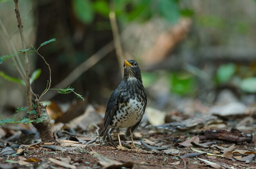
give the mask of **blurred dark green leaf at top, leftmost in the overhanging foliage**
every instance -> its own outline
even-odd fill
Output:
[[[72,0],[72,7],[76,17],[83,23],[91,23],[94,11],[90,0]]]

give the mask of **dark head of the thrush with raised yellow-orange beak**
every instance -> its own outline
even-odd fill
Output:
[[[141,81],[141,72],[135,60],[124,60],[124,79],[129,78],[136,78]]]

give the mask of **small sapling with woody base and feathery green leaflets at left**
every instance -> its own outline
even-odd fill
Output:
[[[8,76],[4,72],[0,72],[0,76],[2,78],[4,78],[5,80],[9,80],[11,82],[16,82],[16,83],[26,86],[27,107],[17,108],[16,114],[10,119],[3,119],[0,117],[1,118],[0,125],[3,123],[14,123],[14,122],[21,122],[21,123],[25,123],[25,124],[31,123],[34,127],[36,127],[36,129],[40,133],[42,142],[54,142],[55,140],[54,140],[53,133],[51,131],[49,115],[47,113],[46,106],[44,106],[41,101],[42,96],[45,93],[47,93],[47,91],[49,91],[49,89],[51,87],[51,82],[52,82],[51,68],[50,68],[49,64],[46,62],[45,58],[42,55],[40,55],[38,50],[42,46],[49,44],[50,42],[56,41],[56,39],[53,38],[51,40],[47,40],[47,41],[43,42],[42,44],[40,44],[40,47],[38,47],[37,49],[33,45],[31,45],[31,48],[26,49],[25,36],[24,36],[24,32],[23,32],[23,24],[22,24],[22,20],[20,18],[20,11],[19,11],[19,7],[18,7],[18,0],[13,0],[13,1],[14,1],[14,7],[15,7],[14,11],[16,13],[16,18],[17,18],[18,30],[20,32],[22,49],[18,50],[18,53],[15,53],[11,56],[1,57],[0,64],[2,64],[4,62],[4,60],[6,60],[8,58],[13,58],[15,56],[15,58],[18,60],[19,63],[17,64],[15,58],[14,58],[13,62],[16,66],[16,69],[20,73],[20,76],[22,77],[22,79]],[[1,27],[4,30],[6,30],[2,25],[1,25]],[[9,37],[8,33],[6,33],[5,36],[8,39],[8,37]],[[12,43],[11,40],[9,42]],[[32,73],[32,75],[30,76],[30,64],[29,64],[29,58],[27,56],[27,53],[31,53],[31,52],[37,53],[43,59],[45,64],[47,64],[48,69],[49,69],[49,80],[47,81],[46,89],[43,91],[43,93],[41,93],[40,96],[35,94],[31,89],[31,83],[33,83],[34,80],[36,80],[40,76],[40,73],[41,73],[41,70],[38,69],[34,73]],[[21,62],[18,58],[19,53],[22,53],[22,56],[24,58],[25,67],[23,67],[23,65],[21,64]],[[68,87],[66,89],[55,89],[55,90],[58,90],[59,93],[64,93],[64,94],[71,93],[71,92],[75,93],[74,89],[72,89],[71,87]],[[77,93],[75,93],[75,94],[83,100],[83,97],[81,95],[79,95]],[[27,111],[28,118],[22,118],[20,120],[16,120],[15,117],[18,116],[20,111]]]

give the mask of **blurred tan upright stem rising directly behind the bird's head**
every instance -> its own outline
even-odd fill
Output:
[[[114,5],[115,5],[114,3],[115,2],[112,1],[112,5],[111,5],[112,11],[110,11],[110,13],[109,13],[109,19],[110,19],[110,24],[111,24],[111,28],[112,28],[115,49],[116,49],[116,53],[117,53],[117,61],[119,62],[121,75],[123,76],[123,74],[124,74],[124,68],[123,68],[124,56],[123,56],[120,37],[119,37],[119,33],[118,33],[116,14],[114,12]]]

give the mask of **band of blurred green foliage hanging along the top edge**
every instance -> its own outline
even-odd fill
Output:
[[[179,0],[73,0],[72,7],[76,17],[85,24],[92,23],[95,14],[108,18],[111,8],[123,22],[135,19],[143,22],[158,15],[175,23],[181,15],[193,15],[191,9],[180,9]]]

